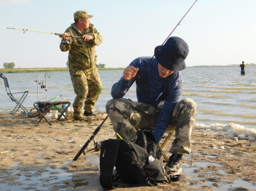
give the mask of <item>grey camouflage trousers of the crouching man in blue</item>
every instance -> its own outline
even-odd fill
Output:
[[[137,140],[137,130],[154,130],[161,108],[149,104],[134,102],[125,98],[111,99],[106,104],[108,116],[114,131],[128,141]],[[171,121],[165,132],[175,131],[171,153],[189,154],[191,152],[191,135],[197,116],[197,104],[190,98],[184,98],[176,105]]]

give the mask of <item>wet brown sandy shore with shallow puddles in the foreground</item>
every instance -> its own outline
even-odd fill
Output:
[[[106,113],[88,121],[56,121],[0,113],[0,190],[103,190],[99,152],[76,153],[102,123]],[[107,120],[95,141],[115,138]],[[167,155],[171,140],[165,146]],[[155,187],[115,190],[256,190],[256,141],[237,140],[210,130],[194,130],[191,155],[183,158],[180,181]],[[93,141],[85,150],[93,148]]]

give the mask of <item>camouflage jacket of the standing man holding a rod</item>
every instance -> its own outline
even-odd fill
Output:
[[[65,33],[71,36],[83,36],[89,34],[93,36],[93,40],[84,41],[82,38],[70,38],[70,44],[65,44],[64,40],[60,44],[60,50],[68,53],[69,67],[75,67],[80,70],[88,70],[96,65],[96,48],[95,45],[102,43],[102,35],[96,30],[93,24],[90,25],[84,33],[80,33],[76,25],[73,23]]]

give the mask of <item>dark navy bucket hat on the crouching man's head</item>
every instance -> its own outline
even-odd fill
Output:
[[[180,71],[186,68],[185,59],[189,51],[186,41],[174,36],[168,38],[165,44],[160,47],[157,46],[154,49],[155,57],[159,64],[171,71]]]

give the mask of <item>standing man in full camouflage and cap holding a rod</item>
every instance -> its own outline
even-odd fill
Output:
[[[102,84],[96,67],[95,45],[102,43],[102,35],[96,30],[85,10],[73,14],[75,22],[65,30],[60,44],[63,52],[69,50],[68,67],[73,90],[76,98],[73,101],[73,118],[76,121],[85,120],[83,115],[91,116],[94,105],[102,92]],[[70,38],[68,36],[79,36],[81,38]],[[85,103],[85,113],[82,107]]]

